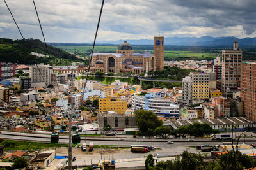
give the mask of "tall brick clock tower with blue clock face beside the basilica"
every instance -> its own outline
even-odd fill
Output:
[[[164,37],[154,37],[154,56],[156,57],[156,70],[164,69]]]

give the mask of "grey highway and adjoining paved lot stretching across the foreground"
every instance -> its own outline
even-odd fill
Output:
[[[20,133],[20,132],[7,132],[2,131],[0,134],[0,138],[4,139],[13,139],[13,140],[21,140],[21,141],[37,141],[37,142],[44,142],[50,143],[50,136],[49,134],[34,134],[34,133]],[[124,141],[120,141],[120,140]],[[130,146],[130,145],[151,145],[155,148],[158,148],[151,153],[156,154],[158,153],[162,157],[168,157],[173,155],[179,155],[184,150],[189,150],[189,152],[198,152],[195,148],[191,148],[189,146],[196,146],[196,145],[221,145],[221,141],[209,141],[209,139],[195,139],[195,141],[188,141],[187,139],[134,139],[134,138],[104,138],[104,137],[82,137],[81,143],[83,141],[93,141],[95,145],[116,145],[116,146]],[[173,141],[173,144],[167,144],[167,141]],[[246,144],[250,145],[251,143],[255,143],[255,138],[248,138],[246,139]],[[68,136],[60,136],[59,143],[68,143]],[[244,143],[244,139],[241,138],[241,142]],[[77,150],[77,149],[75,149]],[[106,153],[103,153],[106,156]],[[96,154],[97,155],[97,154]],[[134,158],[134,157],[143,157],[143,153],[132,154],[129,150],[125,152],[117,152],[114,154],[118,159],[124,158]],[[97,155],[99,157],[99,154]]]

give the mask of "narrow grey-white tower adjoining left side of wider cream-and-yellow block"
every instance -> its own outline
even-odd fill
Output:
[[[182,78],[182,104],[193,104],[193,80],[189,76]]]

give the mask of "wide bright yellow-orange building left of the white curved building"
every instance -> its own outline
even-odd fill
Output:
[[[115,111],[116,113],[125,114],[127,110],[127,101],[123,101],[118,98],[99,98],[99,113],[103,111]]]

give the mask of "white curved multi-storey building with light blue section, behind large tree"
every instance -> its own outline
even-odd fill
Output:
[[[179,105],[171,103],[170,99],[157,98],[154,94],[132,96],[133,110],[153,111],[159,117],[179,117]]]

